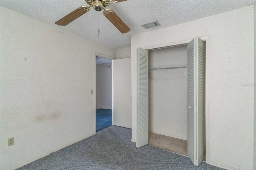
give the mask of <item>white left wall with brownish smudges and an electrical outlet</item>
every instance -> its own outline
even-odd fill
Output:
[[[0,15],[0,169],[7,170],[96,132],[95,52],[116,50],[2,6]]]

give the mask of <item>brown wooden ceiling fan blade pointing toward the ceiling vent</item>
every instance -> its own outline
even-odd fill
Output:
[[[116,15],[116,13],[112,10],[104,10],[104,16],[108,18],[108,20],[122,33],[126,33],[130,31],[130,28]]]

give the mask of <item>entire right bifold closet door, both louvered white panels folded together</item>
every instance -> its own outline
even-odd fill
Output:
[[[194,165],[204,159],[205,42],[188,43],[188,156]]]

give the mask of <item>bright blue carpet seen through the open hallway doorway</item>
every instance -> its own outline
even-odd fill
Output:
[[[96,109],[96,132],[112,125],[112,110]]]

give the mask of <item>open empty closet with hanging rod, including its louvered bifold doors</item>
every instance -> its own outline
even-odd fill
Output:
[[[150,141],[182,150],[199,166],[205,158],[205,42],[138,49],[137,112],[136,147]]]

